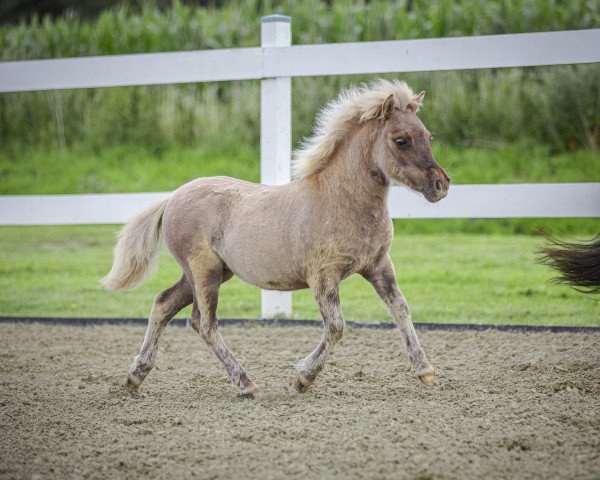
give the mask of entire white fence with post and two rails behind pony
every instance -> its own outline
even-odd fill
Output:
[[[264,17],[261,47],[0,63],[0,92],[261,79],[261,182],[290,181],[291,77],[600,62],[600,29],[291,46],[291,19]],[[123,223],[168,193],[0,197],[0,225]],[[393,187],[394,218],[600,217],[600,183],[453,185],[429,204]],[[262,292],[261,314],[291,295]]]

